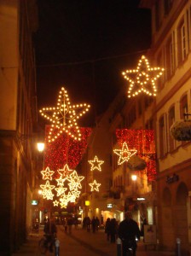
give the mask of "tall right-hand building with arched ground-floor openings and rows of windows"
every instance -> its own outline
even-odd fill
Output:
[[[153,64],[165,67],[153,108],[158,159],[158,238],[162,248],[175,251],[181,241],[182,255],[190,251],[190,139],[171,136],[171,125],[191,113],[191,1],[142,0],[152,12]],[[186,114],[186,115],[185,115]],[[182,120],[182,121],[180,121]],[[176,130],[177,128],[175,128]],[[178,239],[178,240],[177,240]]]

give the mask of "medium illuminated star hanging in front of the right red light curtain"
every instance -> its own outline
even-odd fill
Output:
[[[129,149],[127,143],[123,143],[122,149],[114,149],[113,152],[119,155],[118,164],[121,165],[125,161],[128,162],[133,154],[136,154],[136,149]]]

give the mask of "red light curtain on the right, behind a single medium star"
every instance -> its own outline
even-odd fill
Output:
[[[146,173],[148,181],[155,180],[156,154],[153,130],[117,129],[116,137],[121,147],[123,143],[127,143],[129,148],[136,148],[136,154],[147,162]]]

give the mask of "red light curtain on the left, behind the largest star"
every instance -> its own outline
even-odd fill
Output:
[[[44,168],[49,166],[51,170],[57,171],[67,164],[69,168],[75,169],[87,147],[87,140],[90,137],[92,129],[80,128],[82,134],[80,141],[73,140],[72,137],[63,133],[59,139],[49,143],[48,136],[50,128],[50,125],[46,125],[45,127]],[[54,176],[56,175],[58,176],[57,178],[60,177],[57,172],[55,172]]]

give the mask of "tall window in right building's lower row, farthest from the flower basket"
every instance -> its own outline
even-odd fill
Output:
[[[159,119],[159,153],[160,157],[167,153],[165,115]]]

